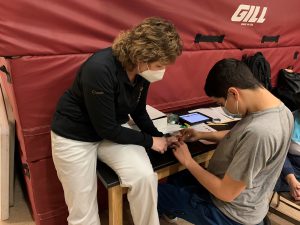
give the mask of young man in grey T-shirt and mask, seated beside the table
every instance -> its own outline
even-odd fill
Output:
[[[197,185],[160,184],[158,211],[196,225],[259,224],[286,157],[293,116],[285,105],[236,59],[223,59],[210,70],[205,92],[242,119],[230,131],[183,130],[174,155]],[[218,142],[208,170],[191,157],[183,141]]]

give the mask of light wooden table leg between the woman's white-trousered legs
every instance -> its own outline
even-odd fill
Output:
[[[109,225],[123,225],[123,191],[120,185],[108,189]]]

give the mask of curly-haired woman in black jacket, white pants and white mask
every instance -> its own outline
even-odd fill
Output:
[[[69,210],[69,225],[100,224],[97,154],[129,187],[136,225],[159,224],[157,176],[145,149],[164,153],[168,142],[146,111],[151,82],[182,52],[173,24],[147,18],[92,55],[61,97],[52,122],[52,154]],[[141,131],[126,124],[132,117]]]

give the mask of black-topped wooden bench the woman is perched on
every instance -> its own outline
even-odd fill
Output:
[[[215,147],[216,145],[204,145],[200,142],[189,143],[191,154],[198,163],[208,162]],[[148,155],[159,180],[185,169],[178,163],[172,151],[167,151],[161,155],[149,150]],[[108,189],[109,225],[122,225],[123,194],[127,193],[127,188],[120,186],[116,173],[100,160],[98,160],[97,174]]]

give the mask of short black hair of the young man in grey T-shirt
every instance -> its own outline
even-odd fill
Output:
[[[204,87],[205,93],[209,97],[226,99],[230,87],[256,89],[262,85],[242,61],[222,59],[209,71]]]

